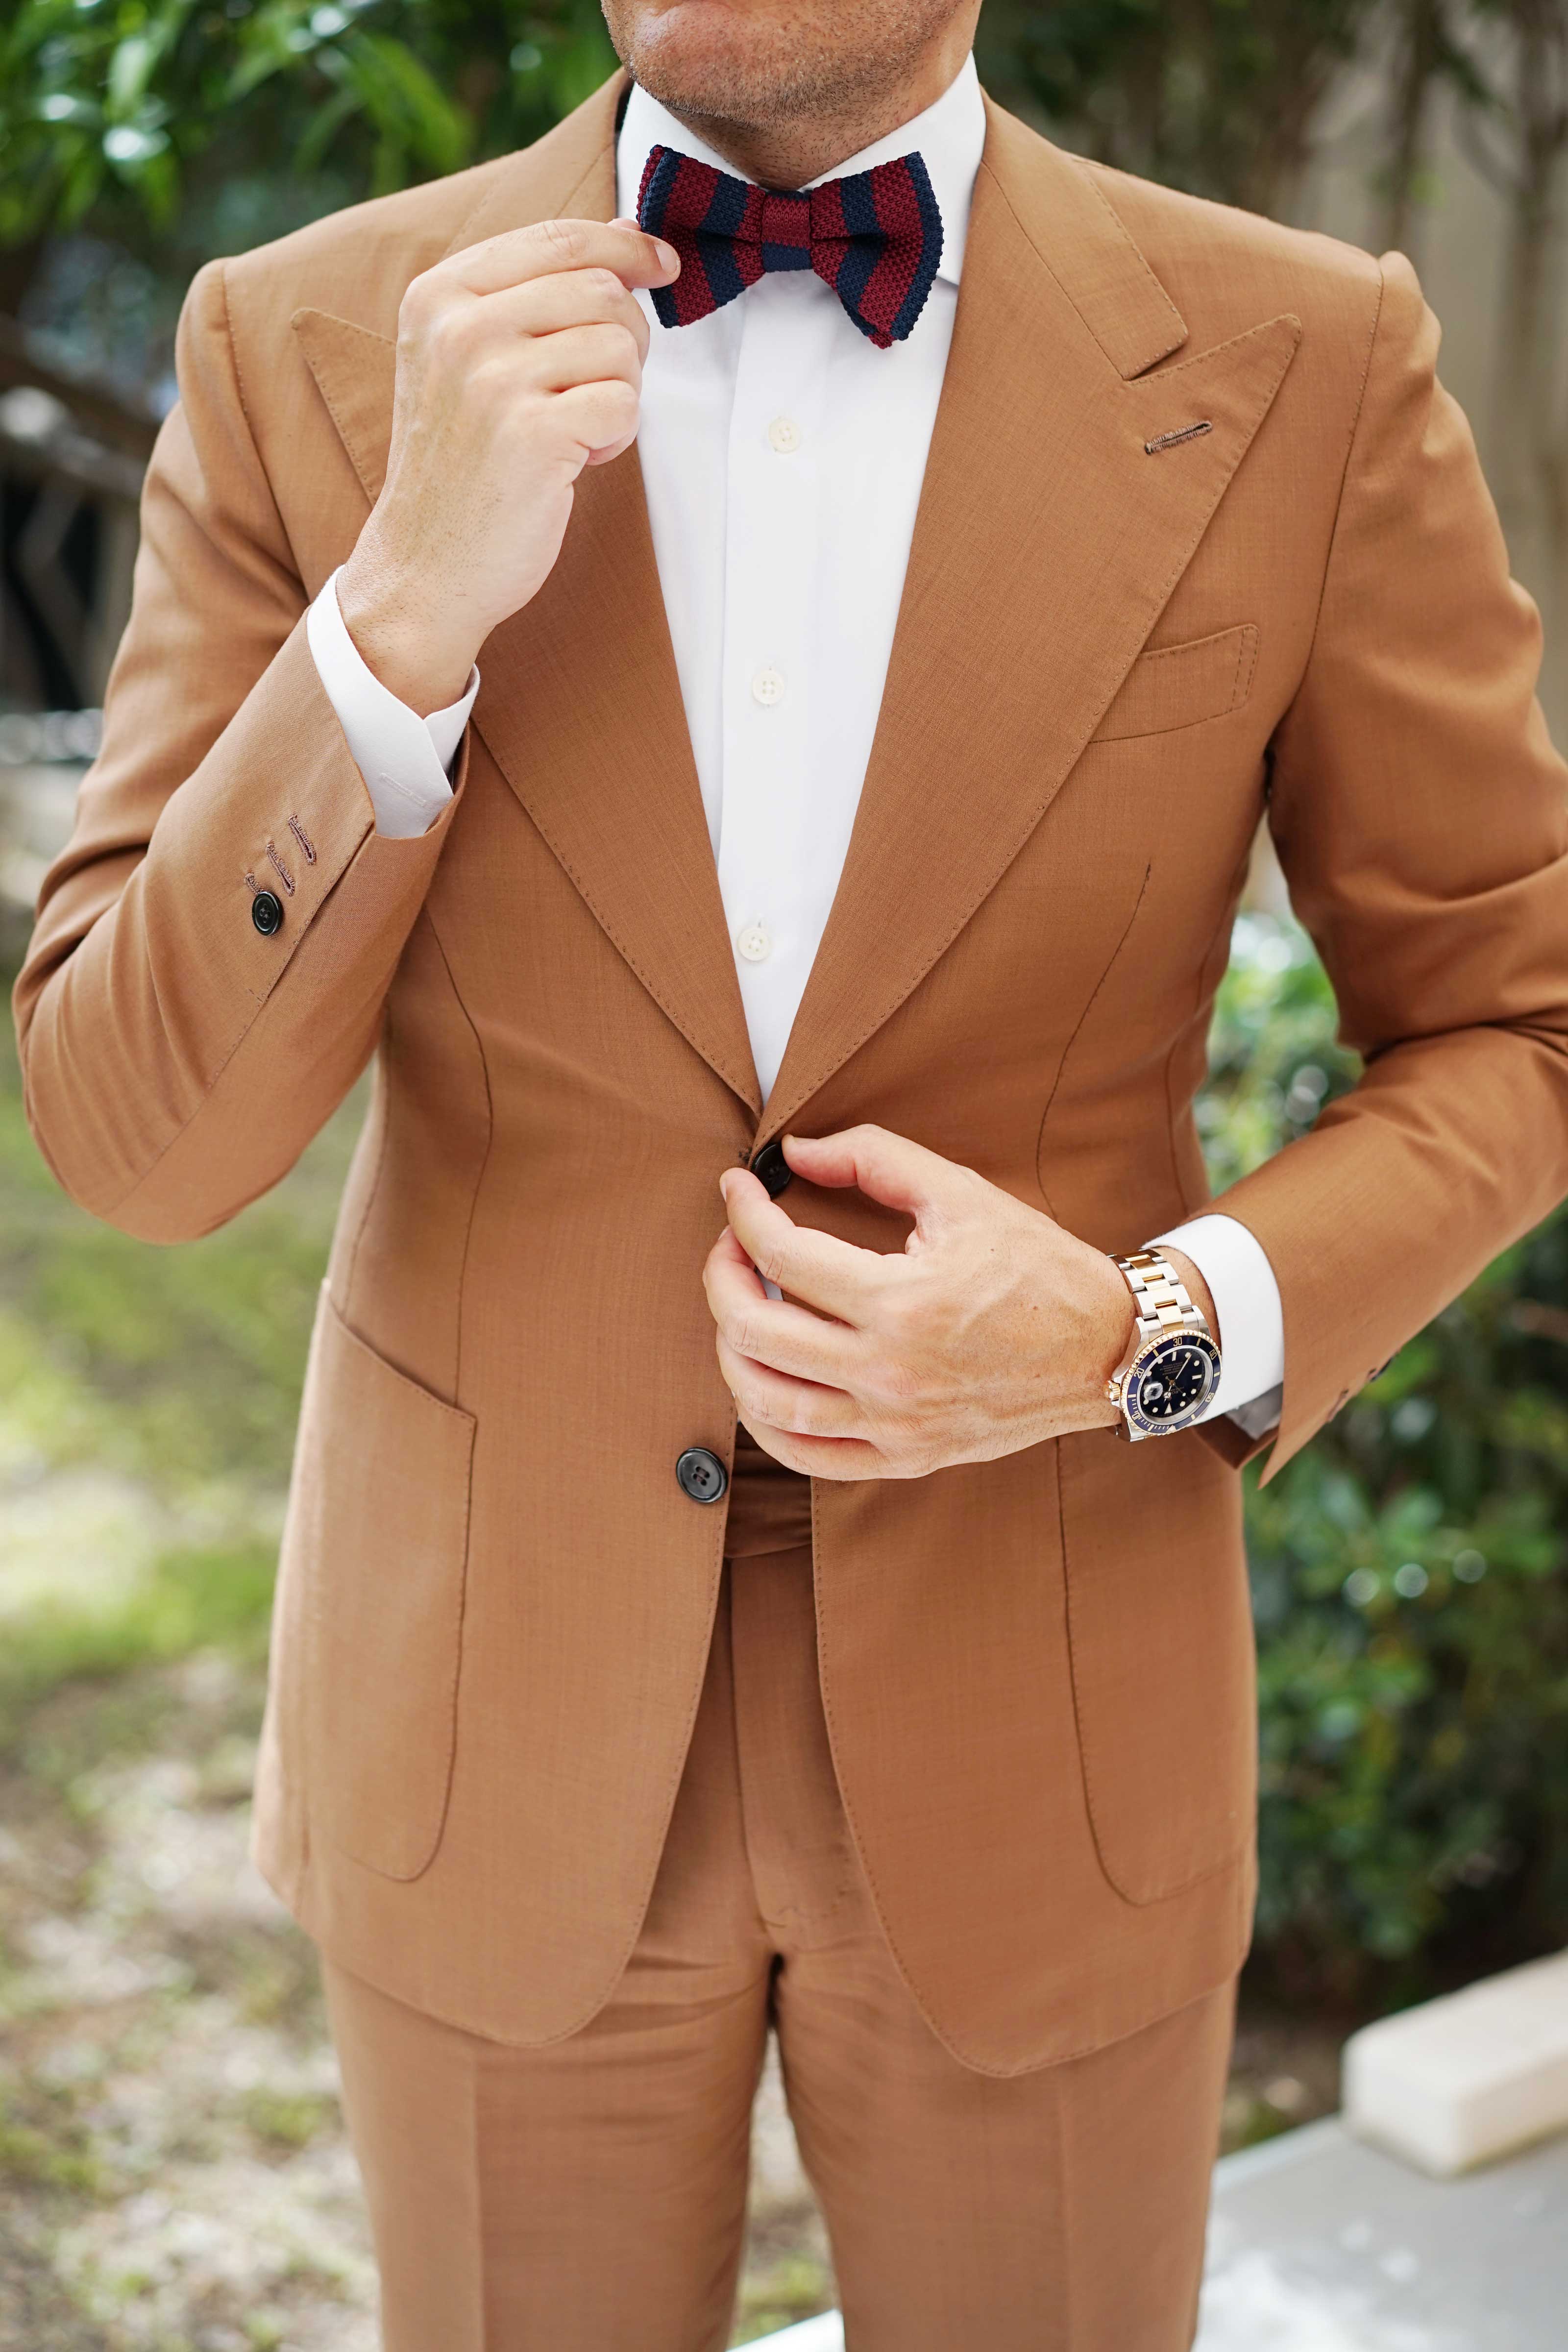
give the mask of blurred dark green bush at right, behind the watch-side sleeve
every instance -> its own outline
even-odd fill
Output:
[[[1305,936],[1241,917],[1215,1185],[1352,1080]],[[1385,2004],[1568,1940],[1566,1371],[1559,1211],[1279,1479],[1248,1472],[1258,1947],[1286,1992]]]

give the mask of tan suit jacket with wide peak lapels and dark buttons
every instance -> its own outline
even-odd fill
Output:
[[[1363,1084],[1225,1209],[1274,1465],[1568,1188],[1563,767],[1410,268],[992,108],[865,795],[759,1115],[637,459],[381,840],[301,614],[376,496],[409,278],[614,209],[618,85],[522,155],[202,270],[106,748],[19,985],[68,1190],[263,1192],[374,1058],[299,1439],[261,1865],[348,1969],[534,2044],[607,1999],[691,1729],[731,1454],[719,1169],[877,1120],[1105,1249],[1192,1120],[1267,814]],[[1161,445],[1187,426],[1199,433]],[[252,882],[284,901],[263,938]],[[790,1211],[903,1228],[797,1183]],[[1218,1985],[1253,1898],[1234,1432],[813,1496],[835,1762],[936,2032],[1016,2072]]]

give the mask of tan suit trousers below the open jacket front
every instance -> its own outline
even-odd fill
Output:
[[[943,2049],[844,1823],[809,1550],[724,1571],[646,1926],[583,2032],[505,2049],[331,1964],[327,1994],[388,2352],[719,2352],[769,2023],[849,2352],[1192,2343],[1232,1990],[1013,2079]]]

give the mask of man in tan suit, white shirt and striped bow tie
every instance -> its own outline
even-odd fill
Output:
[[[1237,1468],[1568,1188],[1410,268],[1058,153],[976,12],[609,0],[630,78],[181,327],[19,1023],[153,1240],[374,1061],[256,1842],[395,2352],[724,2345],[769,2025],[856,2352],[1187,2345]],[[1206,1211],[1260,818],[1366,1077]]]

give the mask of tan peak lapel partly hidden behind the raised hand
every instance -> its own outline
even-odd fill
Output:
[[[496,174],[451,252],[555,214],[616,209],[621,78]],[[301,310],[294,332],[374,503],[393,343]],[[578,477],[557,564],[480,652],[475,727],[588,908],[682,1035],[757,1112],[762,1094],[691,760],[637,452]]]

